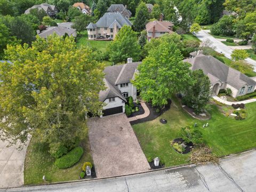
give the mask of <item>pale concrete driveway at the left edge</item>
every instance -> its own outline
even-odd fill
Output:
[[[22,186],[27,146],[18,150],[18,144],[11,147],[7,145],[8,142],[0,140],[0,188]]]

